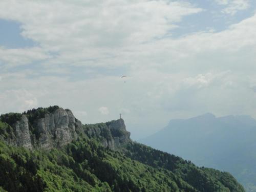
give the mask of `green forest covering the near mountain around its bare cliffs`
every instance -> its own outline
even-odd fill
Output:
[[[23,115],[34,121],[56,109]],[[111,122],[82,125],[76,140],[50,150],[13,146],[6,138],[15,137],[12,124],[20,116],[9,115],[0,118],[0,191],[244,191],[228,173],[132,140],[115,150],[104,147],[102,139],[122,134],[110,131]],[[93,129],[100,137],[90,134]]]

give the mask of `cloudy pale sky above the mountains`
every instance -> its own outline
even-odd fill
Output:
[[[255,11],[254,0],[1,0],[0,114],[121,113],[135,140],[175,118],[256,118]]]

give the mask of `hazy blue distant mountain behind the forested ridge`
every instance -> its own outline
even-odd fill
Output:
[[[208,113],[170,120],[164,129],[140,142],[197,165],[227,171],[247,191],[256,191],[256,120],[250,116],[217,118]]]

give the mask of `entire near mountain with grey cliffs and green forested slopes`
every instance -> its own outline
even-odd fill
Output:
[[[227,172],[198,167],[130,139],[123,119],[82,124],[70,110],[0,117],[0,191],[244,191]]]

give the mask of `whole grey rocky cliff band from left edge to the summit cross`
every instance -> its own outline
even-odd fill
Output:
[[[5,117],[8,117],[8,114]],[[5,121],[3,118],[1,120]],[[13,132],[12,139],[1,136],[1,133],[0,138],[14,146],[24,146],[31,150],[33,148],[48,150],[60,147],[76,140],[79,134],[95,137],[104,147],[110,147],[113,150],[119,148],[123,143],[131,141],[130,132],[126,131],[123,119],[82,125],[74,117],[72,111],[62,108],[57,108],[54,111],[50,111],[48,108],[28,111],[20,115],[19,119],[9,126]]]

